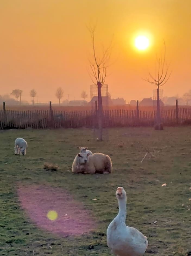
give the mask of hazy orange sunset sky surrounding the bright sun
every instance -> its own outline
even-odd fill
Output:
[[[106,79],[111,97],[151,97],[155,87],[142,80],[153,70],[155,53],[165,39],[172,75],[164,96],[181,96],[191,89],[190,0],[1,0],[0,85],[1,92],[23,90],[30,101],[35,89],[40,102],[57,102],[90,96],[87,73],[91,52],[86,25],[96,22],[96,45],[107,46],[113,36],[112,65]],[[134,33],[147,31],[153,43],[144,52],[131,41]],[[99,44],[98,44],[99,43]]]

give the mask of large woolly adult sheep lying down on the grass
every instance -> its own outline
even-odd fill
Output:
[[[102,153],[79,153],[73,161],[72,172],[109,174],[112,172],[111,158]]]

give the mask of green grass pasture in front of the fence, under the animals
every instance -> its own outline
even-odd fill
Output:
[[[90,129],[0,133],[0,255],[112,255],[106,230],[118,212],[118,186],[127,192],[126,224],[148,237],[145,255],[187,255],[191,251],[190,133],[190,127],[109,129],[109,141],[103,142],[93,140]],[[17,137],[28,142],[26,156],[14,155]],[[109,154],[113,172],[72,174],[77,146]],[[154,156],[141,163],[147,147]],[[60,169],[44,170],[47,161]],[[163,183],[167,186],[161,187]],[[58,212],[56,221],[45,216],[52,207]],[[63,217],[67,213],[76,218],[69,226]],[[80,230],[91,231],[72,235]]]

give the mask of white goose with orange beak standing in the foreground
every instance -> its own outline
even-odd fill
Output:
[[[123,187],[115,193],[118,204],[118,215],[107,228],[107,245],[118,256],[142,256],[148,246],[147,237],[133,227],[126,227],[127,196]]]

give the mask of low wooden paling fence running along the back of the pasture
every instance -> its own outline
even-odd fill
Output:
[[[153,126],[156,111],[112,109],[104,110],[104,127]],[[161,110],[161,120],[166,126],[191,124],[191,109]],[[36,129],[97,127],[95,110],[87,111],[0,111],[0,129]]]

